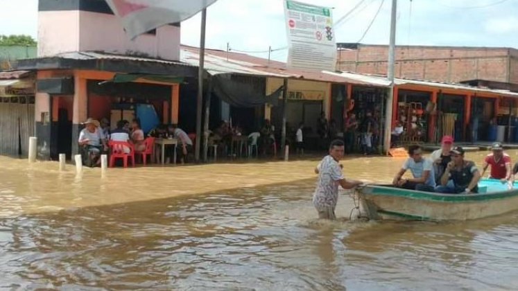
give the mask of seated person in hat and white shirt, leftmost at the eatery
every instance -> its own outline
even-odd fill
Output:
[[[107,152],[108,146],[106,143],[103,131],[100,124],[94,118],[88,118],[82,123],[85,129],[81,130],[79,134],[78,143],[86,150],[87,157],[83,157],[87,166],[94,166],[101,164],[101,153]]]

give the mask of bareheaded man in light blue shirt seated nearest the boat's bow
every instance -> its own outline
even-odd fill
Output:
[[[408,147],[408,155],[410,156],[403,164],[399,173],[394,177],[392,184],[394,186],[417,190],[417,191],[435,191],[435,175],[433,173],[433,162],[429,158],[424,158],[420,145],[411,145]],[[403,179],[406,170],[410,170],[413,179]]]

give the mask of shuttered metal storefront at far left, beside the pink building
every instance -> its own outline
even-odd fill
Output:
[[[0,155],[28,155],[28,140],[34,136],[34,82],[0,80]]]

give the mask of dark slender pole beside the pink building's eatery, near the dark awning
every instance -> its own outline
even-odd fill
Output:
[[[200,161],[200,148],[202,141],[202,105],[203,105],[203,78],[205,77],[205,30],[207,28],[207,8],[202,10],[202,27],[200,36],[200,64],[198,66],[198,98],[196,103],[196,148],[194,159]]]

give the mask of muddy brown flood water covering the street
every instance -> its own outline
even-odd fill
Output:
[[[481,164],[485,154],[468,158]],[[513,160],[517,154],[510,152]],[[340,220],[320,222],[311,204],[316,177],[307,174],[315,161],[110,169],[102,178],[98,169],[76,177],[53,163],[0,161],[1,290],[518,286],[518,213],[455,223],[349,222],[353,203],[344,193]],[[402,162],[343,165],[348,177],[388,182]],[[239,178],[226,174],[232,167]],[[260,186],[270,170],[304,179]],[[232,183],[245,188],[207,191]],[[203,193],[187,193],[197,188]],[[175,191],[185,195],[168,196]]]

